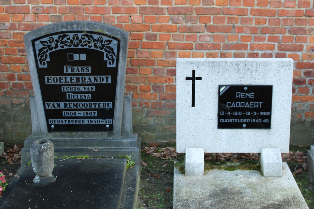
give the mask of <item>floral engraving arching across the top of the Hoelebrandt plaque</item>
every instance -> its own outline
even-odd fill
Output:
[[[97,50],[104,51],[108,64],[112,65],[115,62],[116,53],[111,47],[111,42],[112,40],[104,39],[102,36],[94,38],[92,34],[73,34],[72,38],[68,34],[61,34],[57,39],[51,36],[48,40],[40,41],[42,47],[38,50],[38,60],[41,65],[46,65],[48,52],[57,50],[59,47],[62,49],[69,47],[93,47]]]

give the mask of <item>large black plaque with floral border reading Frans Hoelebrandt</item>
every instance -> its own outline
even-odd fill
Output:
[[[113,130],[120,39],[60,31],[32,40],[49,132]]]

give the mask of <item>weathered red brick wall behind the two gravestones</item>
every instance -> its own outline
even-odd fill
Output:
[[[23,34],[71,20],[130,32],[126,94],[133,97],[134,132],[144,141],[176,139],[179,57],[292,58],[291,140],[313,138],[312,0],[0,0],[0,106],[6,114],[29,110],[33,94]],[[31,132],[27,117],[1,117],[17,125],[0,127],[4,140]]]

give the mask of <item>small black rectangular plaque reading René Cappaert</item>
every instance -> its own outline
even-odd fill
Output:
[[[273,86],[219,85],[218,128],[270,129]]]

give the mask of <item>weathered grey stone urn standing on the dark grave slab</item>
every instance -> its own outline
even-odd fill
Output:
[[[54,167],[54,145],[48,139],[40,139],[30,145],[30,158],[36,174],[34,183],[48,184],[55,180],[51,174]]]

